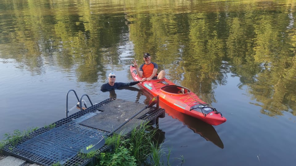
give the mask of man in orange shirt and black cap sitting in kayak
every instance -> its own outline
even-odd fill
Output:
[[[157,75],[158,65],[151,62],[151,56],[149,53],[144,53],[143,60],[145,63],[143,63],[139,68],[136,60],[134,59],[134,66],[140,77],[147,78],[147,81],[162,79],[165,77],[166,72],[164,70],[161,70]]]

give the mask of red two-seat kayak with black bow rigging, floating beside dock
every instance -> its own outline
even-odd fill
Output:
[[[137,70],[133,65],[130,66],[130,73],[135,81],[142,79],[138,76]],[[159,95],[159,99],[162,102],[177,111],[196,117],[208,124],[219,125],[226,121],[226,118],[219,111],[200,100],[195,93],[188,88],[175,85],[167,78],[143,81],[137,85],[147,90],[153,96]]]

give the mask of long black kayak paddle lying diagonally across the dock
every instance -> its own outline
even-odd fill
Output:
[[[144,109],[146,108],[150,108],[152,107],[154,104],[157,104],[158,107],[158,99],[159,96],[155,96],[153,97],[149,103],[145,106],[145,108],[143,108],[142,110],[140,110],[138,113],[134,114],[132,117],[130,117],[128,120],[126,120],[125,122],[123,122],[121,125],[119,125],[117,128],[115,128],[113,131],[111,131],[109,134],[107,134],[105,137],[103,137],[101,140],[95,140],[93,141],[90,145],[82,148],[80,150],[81,153],[88,153],[88,152],[92,152],[92,151],[96,151],[97,149],[100,149],[101,147],[104,146],[105,144],[105,138],[109,137],[110,135],[112,135],[114,132],[116,132],[119,128],[121,128],[123,125],[125,125],[127,122],[129,122],[131,119],[133,119],[134,117],[136,117],[139,113],[141,113],[142,111],[144,111]]]

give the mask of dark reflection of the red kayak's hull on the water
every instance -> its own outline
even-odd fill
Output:
[[[190,128],[193,132],[204,137],[204,139],[206,139],[207,141],[211,141],[213,144],[217,145],[219,148],[222,148],[222,149],[224,148],[224,144],[222,140],[220,139],[218,133],[216,132],[215,128],[212,125],[207,124],[204,121],[201,121],[195,117],[191,117],[186,114],[183,114],[169,107],[162,101],[160,101],[159,104],[161,108],[166,110],[166,113],[169,116],[183,122],[183,124],[187,125],[187,127]]]

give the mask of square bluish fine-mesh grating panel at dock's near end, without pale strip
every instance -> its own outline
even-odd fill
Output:
[[[40,158],[64,164],[87,144],[97,139],[77,135],[62,128],[53,128],[17,146],[18,149]]]

